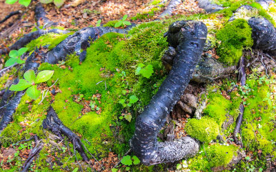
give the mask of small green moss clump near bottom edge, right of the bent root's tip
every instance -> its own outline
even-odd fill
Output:
[[[211,166],[226,166],[233,158],[233,148],[221,144],[213,144],[206,149]]]

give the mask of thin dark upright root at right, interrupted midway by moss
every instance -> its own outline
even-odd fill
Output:
[[[239,60],[239,82],[241,83],[241,86],[246,85],[246,63],[245,63],[244,56],[242,56],[241,59]],[[235,143],[237,144],[242,144],[242,142],[239,142],[239,140],[237,140],[237,133],[239,133],[239,129],[241,128],[243,116],[244,116],[244,104],[241,103],[239,105],[239,116],[237,117],[236,127],[233,132],[233,138]]]

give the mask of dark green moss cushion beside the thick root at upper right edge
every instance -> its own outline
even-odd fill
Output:
[[[219,42],[217,54],[219,61],[226,65],[237,65],[244,47],[252,47],[251,28],[244,19],[227,23],[216,34]]]

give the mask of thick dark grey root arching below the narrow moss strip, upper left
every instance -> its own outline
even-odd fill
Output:
[[[95,41],[95,39],[98,39],[99,36],[102,36],[108,32],[125,34],[126,30],[104,27],[83,28],[75,32],[75,34],[68,36],[65,40],[61,41],[59,45],[47,52],[45,54],[45,62],[55,64],[59,61],[66,61],[66,56],[74,52],[76,52],[79,56],[81,54],[81,47],[85,46],[84,44],[87,43],[87,47],[89,46],[88,41]],[[80,60],[83,61],[84,58],[85,56],[81,54]]]

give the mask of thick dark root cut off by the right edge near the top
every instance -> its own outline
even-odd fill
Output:
[[[265,18],[252,17],[248,20],[252,28],[253,48],[264,50],[269,54],[276,55],[276,29]]]

